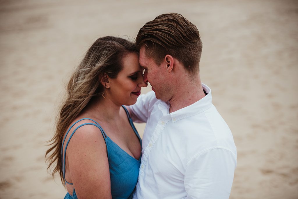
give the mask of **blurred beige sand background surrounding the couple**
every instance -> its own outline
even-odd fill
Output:
[[[1,0],[1,199],[64,197],[44,154],[70,74],[98,37],[169,12],[201,34],[201,78],[238,149],[230,198],[298,198],[298,1]]]

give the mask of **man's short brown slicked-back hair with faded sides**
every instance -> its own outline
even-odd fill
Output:
[[[202,41],[197,27],[177,13],[167,13],[147,22],[136,37],[136,47],[146,48],[146,55],[161,64],[165,55],[178,59],[184,68],[199,71]]]

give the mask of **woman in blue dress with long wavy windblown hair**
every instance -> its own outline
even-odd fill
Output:
[[[72,75],[57,121],[49,167],[60,173],[65,198],[132,198],[141,139],[128,111],[143,81],[134,43],[97,39]]]

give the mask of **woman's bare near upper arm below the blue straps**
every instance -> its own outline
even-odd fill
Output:
[[[112,198],[106,145],[94,125],[80,127],[69,142],[66,163],[78,198]]]

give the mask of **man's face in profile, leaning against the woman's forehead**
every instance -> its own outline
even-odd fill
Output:
[[[170,89],[169,89],[169,79],[166,78],[165,67],[163,67],[163,62],[157,65],[152,57],[146,55],[145,46],[140,49],[139,63],[144,67],[144,81],[149,82],[152,86],[152,90],[155,92],[156,98],[162,101],[169,101]]]

